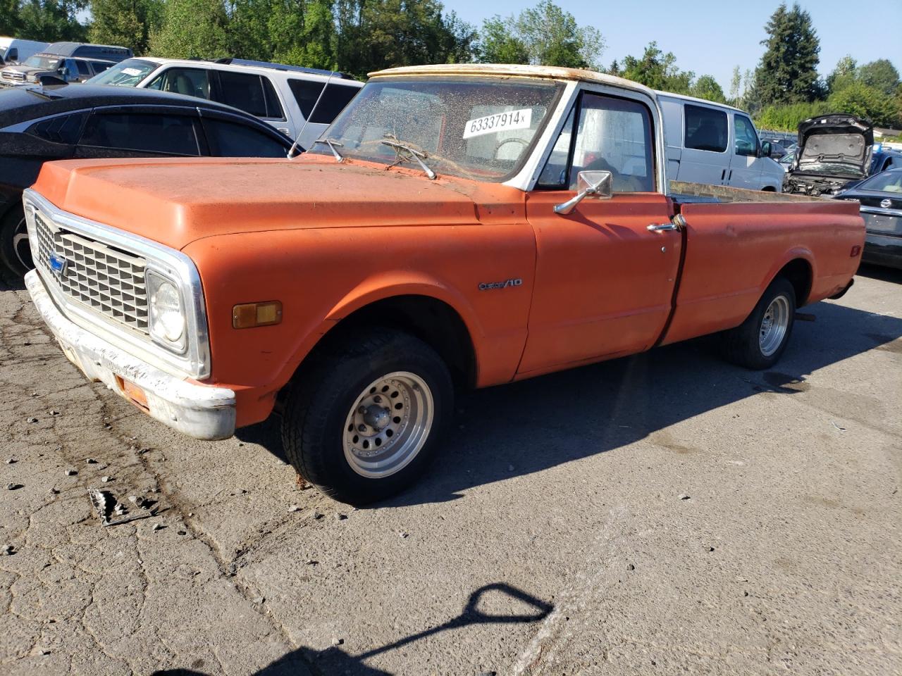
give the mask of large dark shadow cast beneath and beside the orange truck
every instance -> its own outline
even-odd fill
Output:
[[[466,489],[621,448],[760,392],[807,391],[810,374],[861,352],[902,352],[900,318],[835,303],[802,315],[808,321],[796,319],[787,352],[769,371],[722,361],[717,337],[708,336],[465,394],[435,464],[413,488],[374,507],[456,500]],[[284,459],[275,417],[238,434]]]

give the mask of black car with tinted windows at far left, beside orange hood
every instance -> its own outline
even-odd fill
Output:
[[[291,140],[227,105],[96,85],[0,90],[0,265],[32,266],[22,192],[49,160],[286,157]]]

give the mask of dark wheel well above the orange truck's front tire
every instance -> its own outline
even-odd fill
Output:
[[[417,336],[445,360],[456,386],[475,385],[476,357],[470,332],[452,306],[433,297],[396,296],[361,307],[340,320],[315,349],[372,326],[387,326]]]

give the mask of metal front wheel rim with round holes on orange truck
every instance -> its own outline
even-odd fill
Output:
[[[345,418],[345,460],[361,476],[383,479],[417,457],[435,407],[426,381],[410,371],[373,380]]]

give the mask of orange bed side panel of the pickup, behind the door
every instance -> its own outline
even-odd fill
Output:
[[[689,204],[681,213],[686,259],[664,344],[738,326],[792,260],[811,268],[805,304],[844,288],[861,261],[851,255],[864,244],[856,203]]]

